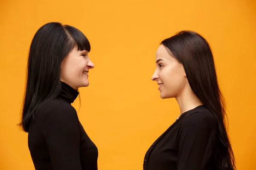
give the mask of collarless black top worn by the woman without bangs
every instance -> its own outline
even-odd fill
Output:
[[[144,170],[218,170],[218,122],[204,106],[181,114],[148,149]]]

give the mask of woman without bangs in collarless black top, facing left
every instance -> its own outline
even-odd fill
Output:
[[[148,149],[144,170],[236,169],[207,40],[180,31],[161,42],[156,65],[152,80],[162,99],[177,100],[180,116]]]

